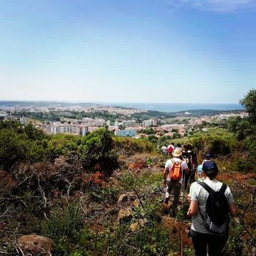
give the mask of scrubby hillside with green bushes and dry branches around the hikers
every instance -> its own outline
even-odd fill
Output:
[[[246,142],[217,131],[179,142],[194,143],[199,162],[211,152],[234,194],[240,223],[231,220],[224,255],[255,255],[255,167]],[[1,123],[0,138],[1,255],[22,255],[16,240],[24,234],[52,239],[56,256],[193,255],[189,204],[180,196],[176,218],[169,216],[167,156],[156,144],[105,129],[84,138],[46,136],[11,122]]]

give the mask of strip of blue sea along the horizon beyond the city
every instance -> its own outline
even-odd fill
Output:
[[[161,112],[178,112],[185,110],[243,110],[240,104],[202,104],[202,103],[112,103],[111,105],[156,110]]]

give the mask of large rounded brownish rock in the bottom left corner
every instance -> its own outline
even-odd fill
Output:
[[[51,239],[35,234],[19,237],[17,244],[22,249],[24,255],[31,254],[32,256],[42,254],[44,254],[44,256],[52,256],[55,247]]]

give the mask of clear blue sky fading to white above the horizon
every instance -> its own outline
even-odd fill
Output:
[[[256,0],[0,0],[0,100],[239,103]]]

